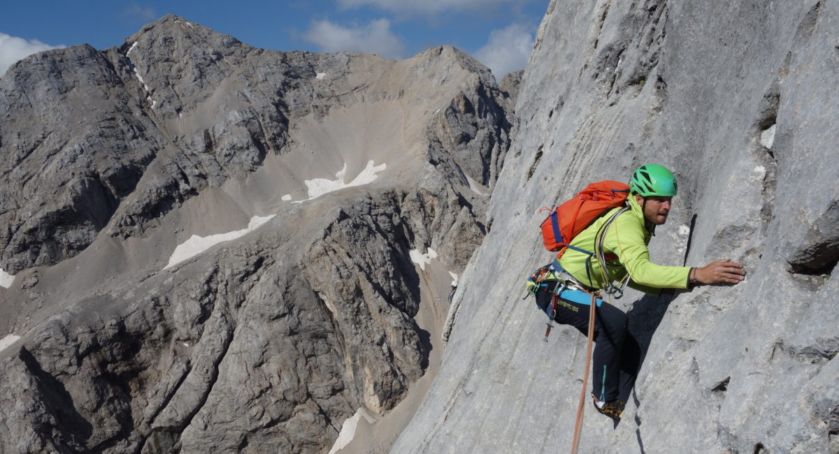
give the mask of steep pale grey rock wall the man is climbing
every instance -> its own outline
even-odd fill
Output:
[[[777,6],[550,3],[440,374],[393,452],[569,451],[586,341],[562,327],[542,343],[521,301],[551,260],[534,213],[643,163],[680,188],[654,261],[749,274],[616,302],[644,365],[616,428],[586,404],[581,452],[839,451],[839,6]]]

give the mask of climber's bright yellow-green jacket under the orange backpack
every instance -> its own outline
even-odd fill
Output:
[[[634,196],[628,198],[630,209],[612,222],[606,231],[603,250],[618,256],[617,261],[607,261],[608,276],[611,281],[623,281],[629,274],[629,286],[636,290],[652,295],[659,295],[662,288],[687,288],[689,266],[661,266],[649,261],[649,240],[653,233],[644,227],[644,214]],[[571,240],[571,245],[594,252],[594,241],[597,232],[607,222],[612,214],[620,208],[612,209],[605,216],[597,219],[586,230]],[[603,281],[600,263],[597,257],[591,257],[589,273],[586,273],[586,260],[589,255],[573,250],[565,250],[560,258],[560,265],[574,276],[581,284],[591,288],[602,289],[607,286]],[[591,277],[591,280],[590,280]]]

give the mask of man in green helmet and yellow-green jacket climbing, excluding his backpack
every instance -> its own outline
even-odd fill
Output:
[[[728,259],[701,268],[660,266],[649,261],[647,245],[655,227],[667,221],[675,194],[676,181],[670,170],[656,164],[641,166],[629,183],[628,208],[612,209],[582,230],[571,240],[573,247],[550,265],[551,271],[586,291],[613,289],[612,282],[628,279],[629,286],[655,296],[702,284],[733,285],[743,281],[743,265]],[[584,251],[604,256],[607,271],[603,272],[600,261],[592,260],[592,255]],[[576,291],[583,295],[582,290]],[[560,294],[554,320],[586,335],[591,299],[587,295],[572,298],[573,293],[568,292]],[[540,287],[536,291],[539,307],[547,307],[553,293]],[[626,313],[598,298],[595,315],[591,396],[597,411],[617,422],[635,383],[641,351],[628,331]]]

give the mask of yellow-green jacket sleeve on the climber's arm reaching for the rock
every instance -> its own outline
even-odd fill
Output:
[[[618,260],[632,277],[633,288],[658,294],[654,288],[687,288],[689,266],[661,266],[649,261],[649,250],[644,241],[644,226],[630,213],[615,219],[607,231],[606,250],[618,255]],[[653,288],[650,288],[653,287]]]

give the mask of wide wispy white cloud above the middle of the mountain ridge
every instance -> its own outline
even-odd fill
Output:
[[[356,51],[400,59],[404,46],[390,31],[390,21],[381,18],[356,28],[341,27],[328,20],[315,21],[303,38],[320,46],[323,52]]]

